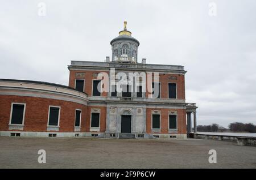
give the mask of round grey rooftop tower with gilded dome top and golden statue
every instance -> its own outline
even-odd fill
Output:
[[[120,31],[119,36],[110,42],[112,45],[112,61],[137,63],[139,41],[131,37],[131,32],[127,31],[127,22],[123,23],[123,31]]]

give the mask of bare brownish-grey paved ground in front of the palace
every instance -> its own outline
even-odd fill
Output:
[[[38,150],[46,150],[46,164]],[[217,164],[208,152],[217,151]],[[214,140],[3,138],[0,168],[256,168],[256,147]]]

